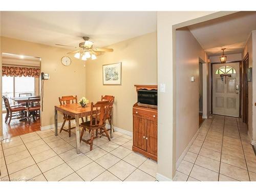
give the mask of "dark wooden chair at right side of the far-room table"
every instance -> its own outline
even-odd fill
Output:
[[[28,106],[24,110],[26,112],[25,119],[28,120],[30,124],[30,116],[32,115],[33,120],[35,117],[40,118],[40,97],[29,97]]]

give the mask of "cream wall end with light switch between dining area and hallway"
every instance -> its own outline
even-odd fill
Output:
[[[173,29],[231,13],[233,12],[161,11],[157,13],[158,84],[166,84],[165,93],[158,90],[158,180],[172,180],[176,171],[176,65],[174,65],[176,60],[173,56],[176,55],[176,40]]]

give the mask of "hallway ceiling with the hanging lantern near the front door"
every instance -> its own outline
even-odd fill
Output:
[[[256,12],[238,12],[188,27],[208,56],[242,53],[250,32],[256,30]]]

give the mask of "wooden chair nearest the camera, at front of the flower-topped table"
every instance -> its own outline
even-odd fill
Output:
[[[84,141],[87,144],[90,144],[90,151],[93,149],[93,140],[101,137],[102,134],[98,136],[98,130],[100,130],[100,133],[102,131],[105,133],[106,137],[110,140],[110,136],[108,131],[106,130],[106,113],[108,113],[110,108],[110,101],[98,101],[95,104],[91,104],[91,120],[86,121],[80,124],[82,127],[81,135],[80,135],[80,142]],[[94,112],[96,111],[96,113]],[[95,117],[95,118],[94,118]],[[82,138],[84,130],[90,130],[91,131],[91,139],[85,140]],[[94,136],[94,131],[96,131],[96,136]]]

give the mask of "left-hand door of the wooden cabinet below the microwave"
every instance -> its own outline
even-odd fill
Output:
[[[133,145],[146,151],[146,119],[133,116]]]

